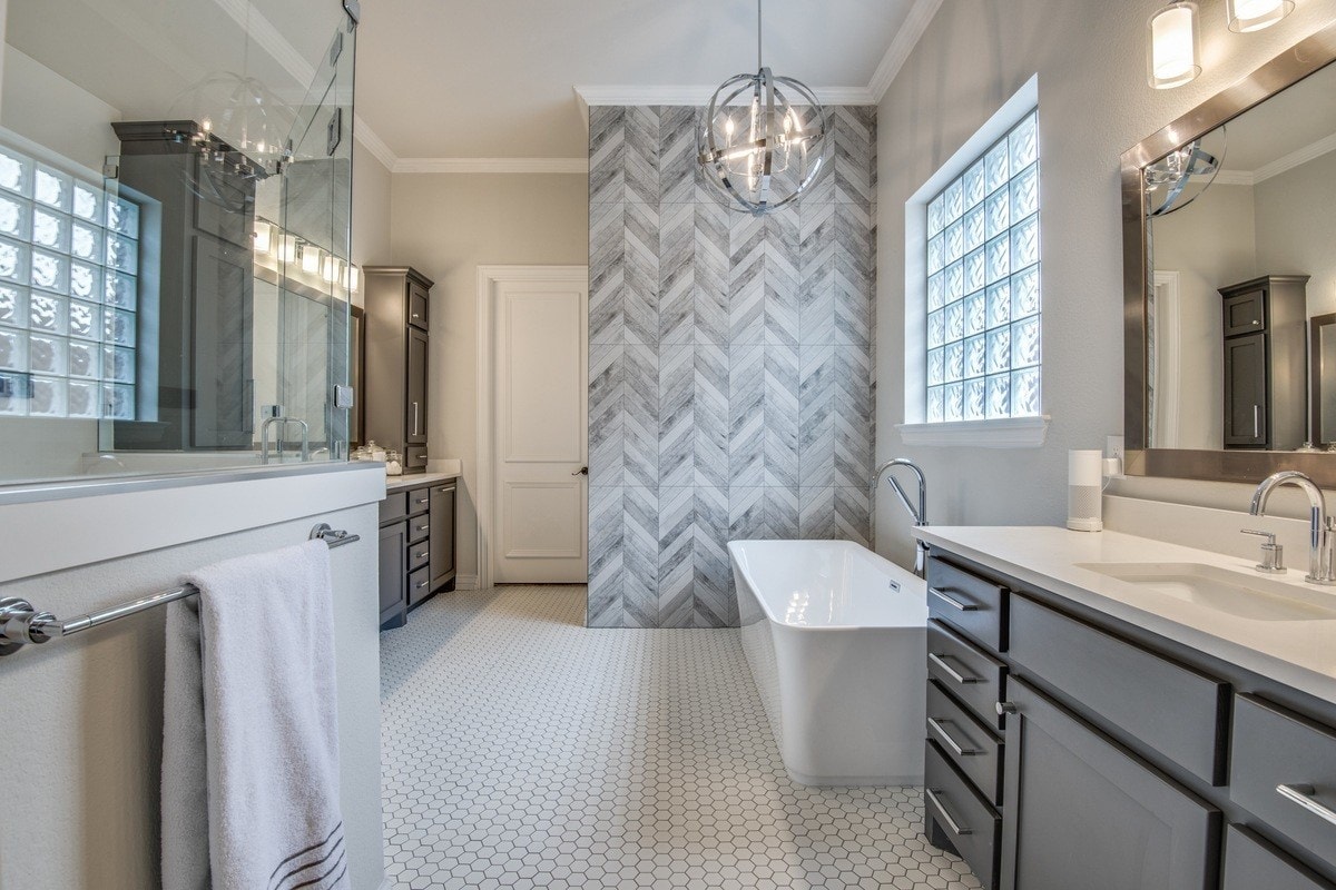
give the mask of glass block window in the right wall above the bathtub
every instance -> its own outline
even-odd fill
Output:
[[[927,205],[927,422],[1039,414],[1031,111]]]

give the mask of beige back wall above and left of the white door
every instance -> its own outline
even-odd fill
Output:
[[[394,263],[436,282],[429,382],[433,458],[464,460],[460,575],[477,575],[477,267],[585,266],[584,175],[398,173]]]

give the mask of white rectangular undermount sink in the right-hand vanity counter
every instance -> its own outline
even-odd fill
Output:
[[[1077,568],[1249,620],[1336,620],[1336,588],[1307,590],[1202,563],[1077,563]]]

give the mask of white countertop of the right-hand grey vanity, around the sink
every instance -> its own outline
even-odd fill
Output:
[[[1018,580],[1122,619],[1255,674],[1336,703],[1336,620],[1244,618],[1177,599],[1079,563],[1198,563],[1293,584],[1299,598],[1329,596],[1336,587],[1304,582],[1307,552],[1288,552],[1289,572],[1259,575],[1256,559],[1138,538],[1117,531],[1069,531],[1047,526],[929,526],[914,530],[930,546],[990,566]],[[1296,568],[1303,566],[1303,568]],[[1259,594],[1264,598],[1263,594]]]

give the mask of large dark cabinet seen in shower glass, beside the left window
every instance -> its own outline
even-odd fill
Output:
[[[154,411],[114,424],[122,450],[254,448],[255,179],[247,159],[191,120],[116,121],[118,183],[143,207],[138,336]]]

